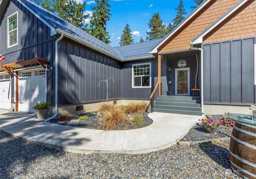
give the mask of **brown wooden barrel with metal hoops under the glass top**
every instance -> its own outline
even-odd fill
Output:
[[[229,151],[233,171],[242,178],[256,179],[256,125],[236,121]]]

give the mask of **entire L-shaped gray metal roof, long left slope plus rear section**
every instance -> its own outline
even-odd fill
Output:
[[[116,60],[137,60],[154,57],[150,52],[164,40],[151,40],[113,48],[30,0],[18,0],[18,2],[44,22],[50,28],[51,35],[64,32],[64,36],[89,46],[94,50],[98,50]]]

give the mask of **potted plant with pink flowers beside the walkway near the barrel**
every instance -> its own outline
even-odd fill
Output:
[[[198,119],[198,121],[201,121],[200,124],[204,127],[204,130],[207,133],[215,134],[218,127],[222,124],[222,121],[214,121],[213,119],[207,119],[204,117],[203,119]]]

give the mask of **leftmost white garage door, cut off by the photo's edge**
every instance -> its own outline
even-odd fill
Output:
[[[0,74],[0,108],[11,108],[11,76]]]

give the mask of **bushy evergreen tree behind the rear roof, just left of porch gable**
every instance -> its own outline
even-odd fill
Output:
[[[148,26],[150,31],[147,31],[146,40],[154,40],[158,38],[162,38],[167,34],[165,29],[165,25],[163,21],[160,19],[159,13],[153,15],[153,17],[149,20]]]

